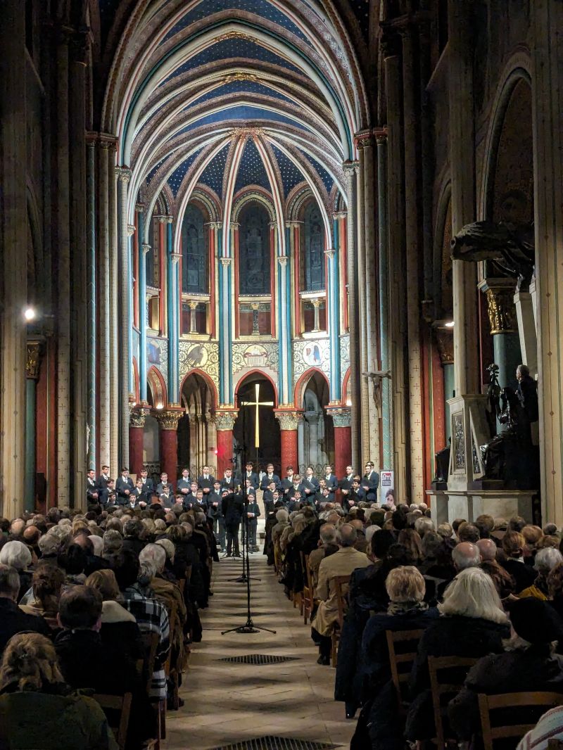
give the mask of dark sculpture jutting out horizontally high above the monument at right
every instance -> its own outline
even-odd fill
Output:
[[[452,259],[489,260],[501,275],[516,276],[516,291],[526,291],[534,274],[534,226],[531,223],[474,221],[452,240]]]

